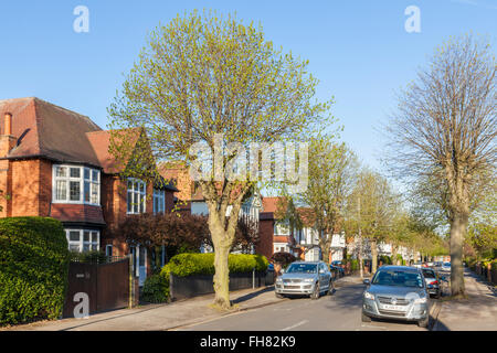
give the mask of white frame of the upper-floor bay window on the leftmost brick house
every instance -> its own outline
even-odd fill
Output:
[[[57,169],[65,168],[66,175],[57,176]],[[80,169],[80,176],[71,176],[71,169]],[[85,178],[85,171],[88,171],[88,179]],[[94,172],[96,172],[96,180],[93,179]],[[74,165],[74,164],[53,164],[52,165],[52,203],[65,203],[65,204],[85,204],[99,206],[101,205],[101,171],[95,168]],[[57,200],[57,181],[65,181],[65,199]],[[80,183],[80,200],[71,200],[71,182]],[[85,182],[89,183],[89,201],[85,201]],[[92,202],[93,188],[96,189],[96,203]]]

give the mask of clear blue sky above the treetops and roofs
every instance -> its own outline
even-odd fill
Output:
[[[80,4],[89,9],[88,33],[73,31]],[[421,33],[404,30],[409,6],[421,10]],[[373,127],[434,47],[468,31],[490,35],[497,47],[497,0],[2,1],[0,99],[35,96],[106,128],[106,108],[147,33],[192,9],[236,11],[261,22],[276,45],[308,58],[318,97],[336,98],[342,140],[377,169],[383,140]]]

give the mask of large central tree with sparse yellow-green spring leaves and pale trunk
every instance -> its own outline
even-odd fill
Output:
[[[248,146],[303,142],[328,121],[331,103],[314,99],[316,86],[308,62],[275,50],[261,26],[193,12],[151,33],[108,109],[110,128],[146,131],[155,159],[201,172],[195,181],[209,208],[218,307],[231,307],[228,255],[237,217],[230,214],[240,213],[261,170],[244,173]],[[112,146],[115,156],[136,151],[126,148],[126,138],[112,139]],[[209,153],[199,153],[199,146]]]

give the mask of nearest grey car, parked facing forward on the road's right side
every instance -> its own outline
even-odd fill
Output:
[[[426,284],[421,269],[382,266],[371,280],[364,279],[362,321],[371,318],[416,321],[426,328],[430,320]]]

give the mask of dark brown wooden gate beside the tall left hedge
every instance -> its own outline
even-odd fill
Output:
[[[106,264],[71,263],[64,318],[74,317],[74,296],[88,295],[89,314],[126,308],[129,304],[129,258]]]

